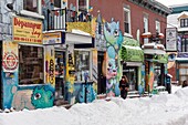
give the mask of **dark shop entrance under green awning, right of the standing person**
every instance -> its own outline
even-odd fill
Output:
[[[123,67],[123,75],[126,75],[129,83],[130,91],[138,91],[137,84],[137,67],[136,66],[124,66]]]

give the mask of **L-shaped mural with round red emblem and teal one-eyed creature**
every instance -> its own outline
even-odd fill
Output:
[[[34,110],[53,106],[54,87],[51,84],[19,85],[18,44],[3,42],[3,108]]]

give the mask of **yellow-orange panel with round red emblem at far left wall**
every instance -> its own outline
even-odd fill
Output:
[[[18,44],[3,41],[2,70],[3,72],[18,72]]]

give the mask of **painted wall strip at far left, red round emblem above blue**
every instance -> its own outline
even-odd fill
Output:
[[[18,85],[18,44],[12,41],[3,41],[2,51],[2,82],[3,82],[3,107],[10,108],[12,85]]]

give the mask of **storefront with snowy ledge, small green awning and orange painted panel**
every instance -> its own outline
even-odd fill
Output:
[[[153,92],[157,86],[165,86],[168,54],[163,44],[143,45],[145,53],[146,90]]]

